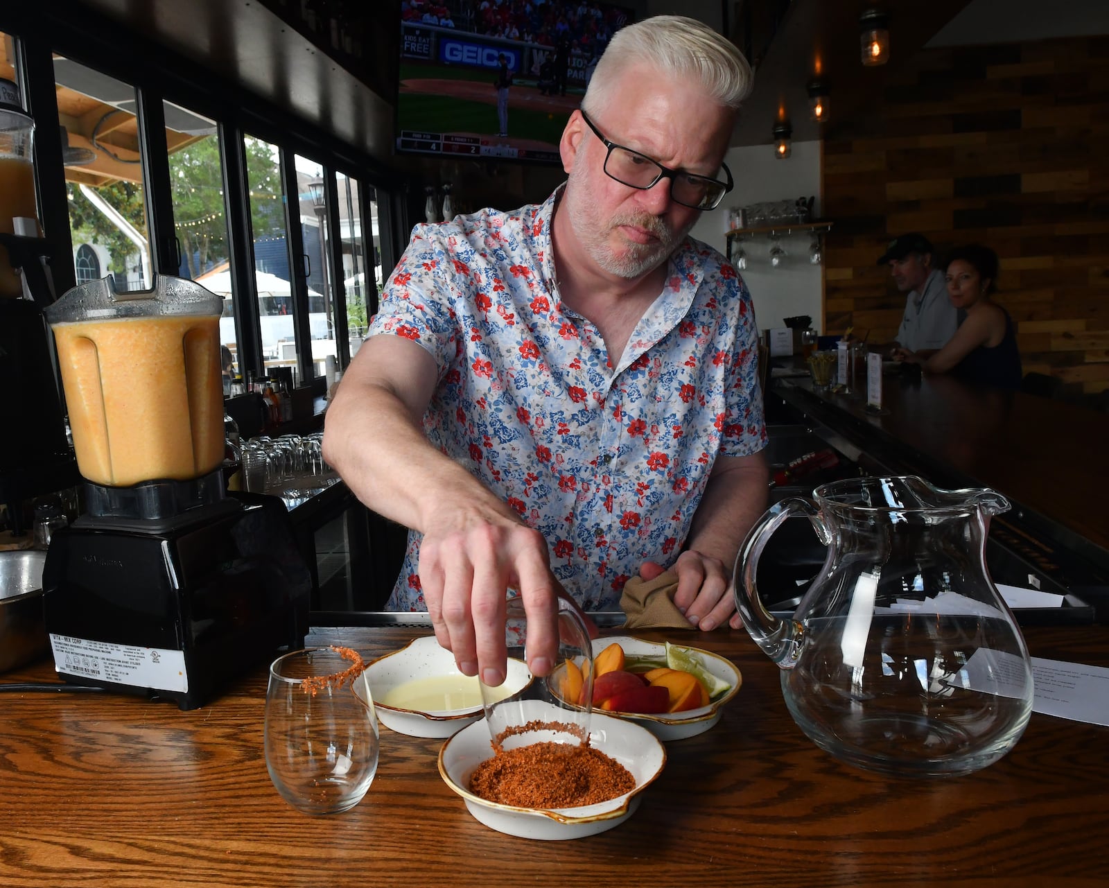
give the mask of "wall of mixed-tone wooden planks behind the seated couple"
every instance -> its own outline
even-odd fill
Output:
[[[875,266],[909,231],[1001,259],[1025,370],[1109,388],[1109,38],[922,51],[824,141],[824,328],[893,338]]]

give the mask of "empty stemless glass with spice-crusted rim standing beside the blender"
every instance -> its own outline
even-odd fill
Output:
[[[377,713],[363,668],[357,654],[336,647],[294,651],[269,666],[266,767],[297,810],[347,810],[374,780]]]

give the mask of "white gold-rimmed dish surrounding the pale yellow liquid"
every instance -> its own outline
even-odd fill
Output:
[[[456,678],[472,681],[472,705],[459,708],[438,710],[406,707],[389,703],[390,692],[400,685],[421,678]],[[439,646],[435,635],[426,635],[407,644],[399,651],[375,660],[366,667],[369,692],[374,696],[377,717],[386,727],[411,737],[449,737],[456,731],[476,722],[485,713],[481,690],[477,677],[468,677],[458,671],[455,655]],[[505,696],[518,693],[531,684],[531,672],[519,660],[508,661],[508,677],[500,686]],[[486,734],[488,739],[488,732]]]

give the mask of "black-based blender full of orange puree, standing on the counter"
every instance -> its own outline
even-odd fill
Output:
[[[189,710],[304,646],[312,581],[284,506],[224,490],[222,302],[170,276],[103,278],[45,309],[85,482],[42,576],[67,682]]]

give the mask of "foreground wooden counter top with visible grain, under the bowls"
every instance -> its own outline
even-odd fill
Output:
[[[428,630],[316,629],[373,657]],[[94,693],[0,694],[0,885],[1103,886],[1109,728],[1034,715],[965,777],[893,779],[816,748],[745,633],[641,633],[732,659],[720,724],[667,744],[624,824],[573,841],[479,825],[437,770],[441,741],[381,727],[363,802],[328,817],[277,795],[263,755],[266,668],[208,705]],[[1032,655],[1109,665],[1109,627],[1032,627]],[[49,661],[6,683],[52,681]]]

